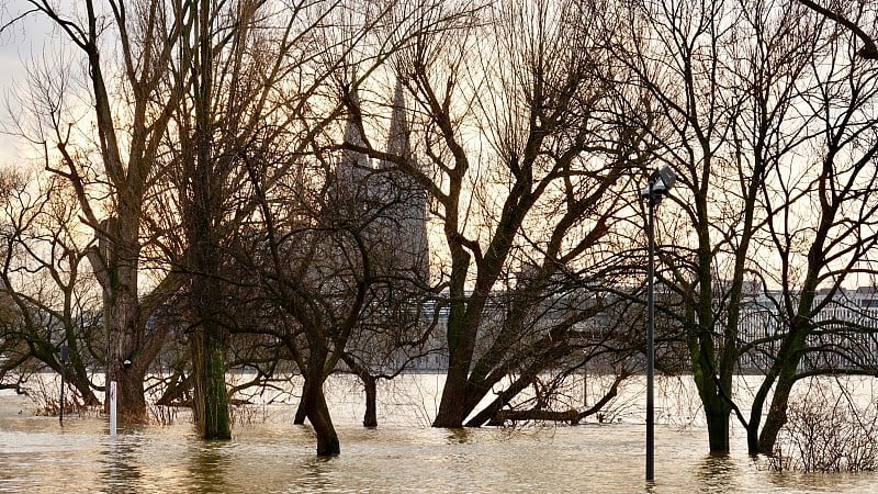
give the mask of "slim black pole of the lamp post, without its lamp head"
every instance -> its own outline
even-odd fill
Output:
[[[649,242],[649,262],[646,263],[646,481],[655,479],[655,192],[650,183],[646,212],[646,238]]]

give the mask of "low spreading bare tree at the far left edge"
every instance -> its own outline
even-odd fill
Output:
[[[100,402],[89,368],[104,348],[97,287],[89,284],[86,246],[77,245],[77,209],[57,178],[0,177],[0,382],[26,392],[34,372],[65,373],[83,406]],[[69,351],[69,363],[60,348]],[[69,370],[68,370],[69,369]]]

